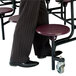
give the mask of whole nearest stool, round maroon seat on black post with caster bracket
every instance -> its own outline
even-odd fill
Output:
[[[56,37],[59,36],[59,35],[67,34],[69,31],[70,31],[69,27],[64,26],[64,25],[60,25],[60,24],[41,25],[41,26],[38,26],[37,29],[36,29],[36,32],[38,34],[48,36],[49,39],[52,40],[52,70],[55,70],[55,60],[57,60],[59,62],[64,62],[64,58],[59,58],[59,57],[55,56]],[[63,70],[61,70],[61,72],[62,71]]]

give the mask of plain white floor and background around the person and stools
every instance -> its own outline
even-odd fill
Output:
[[[52,1],[53,2],[53,1]],[[67,10],[69,9],[67,7]],[[18,9],[17,9],[18,10]],[[18,12],[16,12],[17,14]],[[70,16],[69,11],[67,11],[67,16]],[[63,21],[58,19],[53,15],[49,15],[50,23],[63,24]],[[63,74],[59,74],[56,70],[51,70],[51,57],[47,57],[44,59],[38,59],[34,55],[34,49],[32,47],[30,59],[36,60],[39,62],[39,65],[32,68],[22,68],[22,67],[12,67],[9,65],[13,35],[15,30],[15,23],[10,22],[5,25],[5,37],[6,40],[2,40],[2,35],[0,32],[0,76],[76,76],[76,41],[69,42],[57,47],[57,50],[63,51],[62,57],[65,58],[65,72]],[[67,26],[70,26],[67,24]],[[0,29],[1,31],[1,29]],[[66,37],[68,36],[59,36]],[[75,35],[74,35],[75,36]],[[50,42],[51,44],[51,42]]]

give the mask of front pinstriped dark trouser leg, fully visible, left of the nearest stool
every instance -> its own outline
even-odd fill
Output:
[[[22,1],[25,4],[15,29],[10,58],[10,62],[17,63],[26,62],[29,59],[40,6],[40,0]]]

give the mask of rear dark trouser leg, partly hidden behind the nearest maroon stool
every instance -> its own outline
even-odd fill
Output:
[[[44,24],[49,24],[48,13],[45,6],[45,2],[41,1],[37,26],[44,25]],[[34,45],[35,54],[37,56],[47,56],[51,54],[51,46],[49,44],[48,37],[39,35],[35,32],[33,45]]]

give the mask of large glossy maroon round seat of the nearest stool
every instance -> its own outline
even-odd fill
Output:
[[[47,24],[38,26],[36,32],[45,36],[58,36],[70,31],[69,27],[60,24]]]

